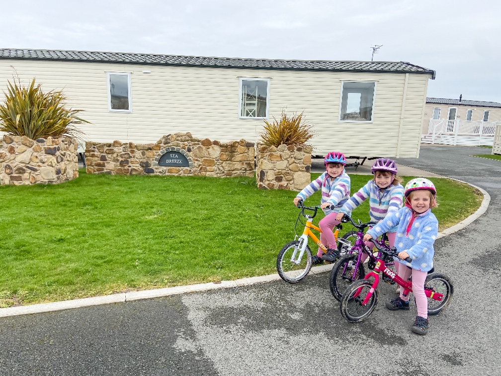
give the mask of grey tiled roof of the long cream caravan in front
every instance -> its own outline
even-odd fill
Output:
[[[355,71],[355,72],[395,72],[427,73],[435,75],[431,69],[407,62],[385,61],[306,61],[278,59],[217,58],[203,56],[178,56],[155,54],[132,54],[121,52],[0,49],[0,59],[35,59],[59,61],[86,61],[102,63],[129,63],[148,65],[179,65],[222,68],[314,70],[314,71]]]

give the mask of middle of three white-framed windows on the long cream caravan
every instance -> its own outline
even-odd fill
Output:
[[[270,104],[269,78],[240,78],[238,117],[268,119]]]

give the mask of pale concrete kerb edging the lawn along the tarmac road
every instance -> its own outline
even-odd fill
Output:
[[[462,220],[458,224],[451,226],[442,232],[439,232],[437,239],[464,229],[466,226],[468,226],[470,223],[472,223],[474,220],[476,220],[478,217],[484,214],[487,211],[487,208],[490,203],[490,195],[480,187],[470,184],[467,181],[462,181],[451,177],[447,178],[469,184],[472,187],[476,188],[483,194],[483,201],[475,213],[470,215],[468,218]],[[321,274],[330,271],[331,268],[332,265],[330,264],[314,266],[311,269],[310,273]],[[121,303],[133,300],[160,298],[164,296],[184,294],[187,292],[200,292],[200,291],[217,290],[228,287],[249,286],[257,283],[272,282],[277,280],[280,280],[280,276],[278,274],[269,274],[258,277],[240,278],[240,279],[235,279],[233,281],[220,281],[220,283],[215,283],[215,282],[199,283],[196,285],[166,287],[161,289],[143,290],[143,291],[132,291],[132,292],[113,294],[113,295],[96,296],[92,298],[64,300],[53,303],[41,303],[41,304],[23,305],[9,308],[0,308],[0,317],[19,316],[33,313],[60,311],[64,309],[89,307],[101,304]]]

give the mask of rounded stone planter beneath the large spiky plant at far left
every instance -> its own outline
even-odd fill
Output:
[[[0,141],[0,184],[60,183],[78,177],[73,138],[4,135]]]

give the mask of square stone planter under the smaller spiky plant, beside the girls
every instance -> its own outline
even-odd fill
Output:
[[[311,146],[265,146],[258,143],[256,179],[265,190],[300,191],[311,182]]]

